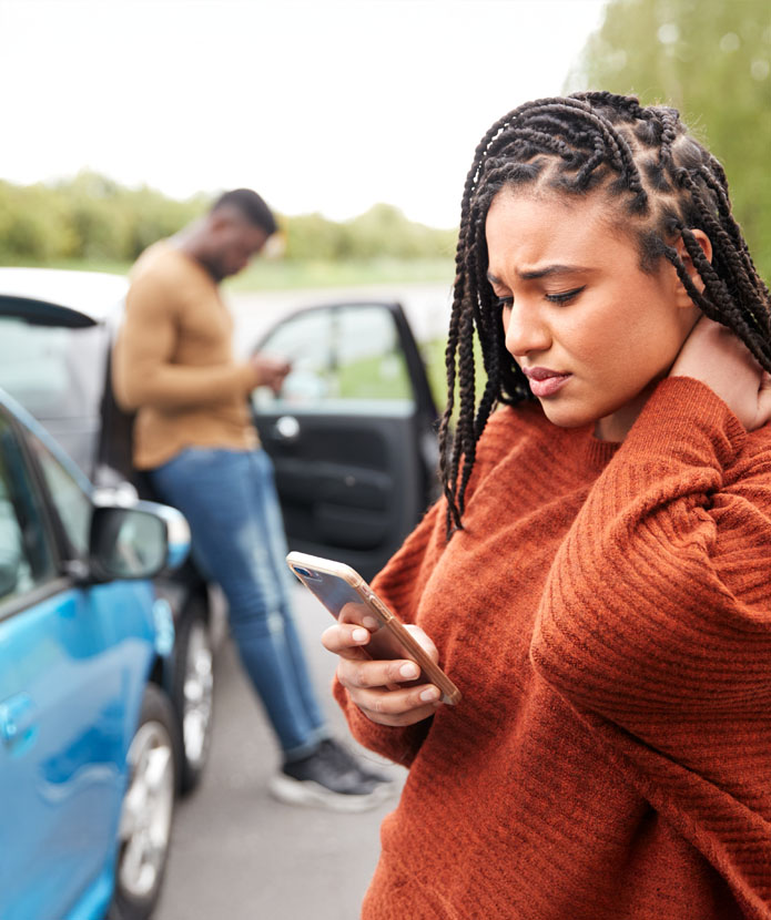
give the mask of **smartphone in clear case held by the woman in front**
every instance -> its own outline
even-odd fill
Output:
[[[410,658],[420,668],[420,676],[407,684],[435,684],[442,691],[442,702],[454,706],[460,699],[460,691],[432,661],[423,646],[404,624],[375,594],[364,579],[342,562],[307,553],[290,553],[286,564],[341,623],[365,626],[364,617],[376,624],[365,626],[372,633],[362,651],[377,661]]]

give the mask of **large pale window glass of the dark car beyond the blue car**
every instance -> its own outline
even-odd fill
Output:
[[[0,387],[39,419],[92,416],[104,380],[105,333],[0,316]]]

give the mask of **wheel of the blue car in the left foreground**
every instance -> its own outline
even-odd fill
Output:
[[[129,781],[118,832],[110,920],[146,920],[158,902],[171,844],[176,745],[171,703],[149,684],[126,756]]]

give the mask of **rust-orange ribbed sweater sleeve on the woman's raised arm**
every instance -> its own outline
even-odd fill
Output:
[[[530,658],[641,794],[771,917],[771,437],[658,387],[550,569]]]

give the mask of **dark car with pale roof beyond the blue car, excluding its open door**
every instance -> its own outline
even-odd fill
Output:
[[[109,386],[109,356],[128,280],[94,272],[0,268],[0,388],[52,435],[97,487],[153,499],[131,466],[131,419]],[[176,642],[170,696],[181,793],[204,773],[212,737],[214,648],[225,605],[191,560],[155,580]]]

